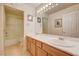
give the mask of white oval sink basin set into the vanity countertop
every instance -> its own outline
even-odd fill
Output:
[[[53,44],[58,45],[58,46],[63,46],[63,47],[73,47],[75,46],[73,41],[70,40],[59,40],[59,39],[55,39],[51,41]]]

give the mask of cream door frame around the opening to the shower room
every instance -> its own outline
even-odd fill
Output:
[[[3,52],[3,55],[5,56],[5,32],[6,32],[6,12],[5,10],[14,10],[15,11],[21,11],[21,12],[18,12],[18,13],[22,13],[23,15],[23,40],[24,40],[24,11],[22,10],[19,10],[19,9],[16,9],[16,8],[13,8],[13,7],[10,7],[10,6],[6,6],[6,5],[3,5],[3,20],[4,20],[4,24],[3,24],[3,47],[4,47],[4,52]],[[16,13],[16,12],[15,12]],[[18,14],[16,13],[16,14]],[[22,45],[23,45],[23,40],[22,40]]]

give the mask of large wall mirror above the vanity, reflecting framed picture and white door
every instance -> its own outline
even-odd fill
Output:
[[[43,4],[43,6],[46,4]],[[62,5],[62,6],[61,6]],[[79,37],[79,9],[75,3],[59,3],[37,13],[42,18],[42,33]],[[52,7],[52,8],[51,8]],[[61,8],[60,8],[61,7]],[[40,9],[42,7],[39,7]],[[60,9],[59,9],[60,8]]]

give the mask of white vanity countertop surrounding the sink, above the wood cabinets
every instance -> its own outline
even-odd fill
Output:
[[[46,44],[48,44],[50,46],[56,47],[56,48],[58,48],[60,50],[66,51],[68,53],[71,53],[71,54],[73,54],[75,56],[79,56],[79,38],[64,37],[67,40],[70,40],[70,41],[74,42],[74,46],[72,46],[72,47],[65,47],[65,46],[59,46],[59,45],[53,44],[54,42],[51,43],[50,39],[52,39],[52,41],[53,41],[55,38],[59,38],[61,36],[49,35],[49,34],[38,34],[38,35],[27,34],[26,36],[32,37],[32,38],[34,38],[36,40],[44,42],[44,43],[46,43]]]

